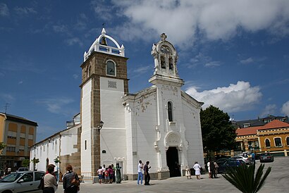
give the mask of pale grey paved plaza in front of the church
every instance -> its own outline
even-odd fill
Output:
[[[153,164],[153,163],[152,163]],[[260,163],[257,161],[256,166]],[[289,157],[275,157],[273,163],[265,163],[266,168],[272,167],[271,173],[265,181],[264,187],[259,192],[288,192],[289,189]],[[123,181],[121,184],[92,184],[92,182],[81,183],[81,193],[92,192],[240,192],[233,187],[222,175],[217,179],[209,179],[208,175],[201,175],[202,180],[197,180],[192,176],[192,180],[186,177],[169,178],[166,180],[151,180],[150,186],[137,185],[136,180]],[[57,192],[63,192],[62,185],[59,185]]]

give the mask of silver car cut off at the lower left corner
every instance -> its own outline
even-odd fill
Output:
[[[38,189],[44,171],[24,171],[11,173],[0,180],[0,192],[42,192]]]

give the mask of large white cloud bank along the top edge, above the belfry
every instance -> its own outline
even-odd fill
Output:
[[[267,30],[273,35],[289,34],[287,0],[115,0],[113,3],[118,6],[115,9],[118,14],[128,18],[127,23],[119,26],[123,30],[118,31],[128,38],[143,39],[147,38],[147,32],[159,35],[166,32],[173,44],[187,46],[194,42],[197,34],[211,40],[226,40],[234,37],[239,29],[247,32]],[[97,4],[92,6],[94,11],[102,14]]]

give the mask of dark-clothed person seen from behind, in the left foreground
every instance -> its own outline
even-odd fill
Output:
[[[80,185],[78,174],[73,172],[70,164],[66,166],[66,171],[62,179],[64,193],[77,193]]]

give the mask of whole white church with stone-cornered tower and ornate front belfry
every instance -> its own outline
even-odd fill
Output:
[[[131,94],[125,47],[102,29],[80,66],[80,113],[66,130],[31,147],[30,159],[39,163],[30,168],[57,163],[65,173],[69,163],[78,173],[97,176],[99,166],[119,163],[123,178],[135,180],[140,160],[150,162],[153,179],[183,175],[195,161],[204,167],[203,103],[181,90],[178,54],[166,38],[163,33],[152,45],[152,86]]]

